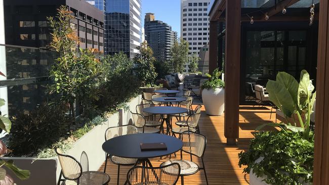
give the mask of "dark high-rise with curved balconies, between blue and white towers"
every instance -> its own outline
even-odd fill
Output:
[[[169,59],[170,49],[177,39],[177,32],[167,23],[155,20],[153,13],[147,13],[144,19],[145,39],[153,50],[154,57],[160,61]]]

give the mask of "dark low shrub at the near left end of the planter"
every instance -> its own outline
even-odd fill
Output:
[[[33,156],[38,149],[57,142],[67,134],[72,118],[65,105],[44,105],[12,119],[9,147],[14,156]]]

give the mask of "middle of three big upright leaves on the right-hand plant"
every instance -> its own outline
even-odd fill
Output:
[[[297,106],[299,84],[295,77],[286,72],[278,72],[276,75],[276,81],[284,85],[284,87],[289,91],[290,95],[292,96],[295,105]]]

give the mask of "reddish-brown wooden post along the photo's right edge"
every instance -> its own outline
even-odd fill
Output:
[[[320,1],[313,184],[329,184],[329,2]]]

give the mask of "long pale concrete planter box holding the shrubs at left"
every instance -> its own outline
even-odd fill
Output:
[[[132,99],[128,103],[129,110],[119,110],[111,115],[103,124],[97,125],[91,131],[79,138],[66,154],[73,156],[78,161],[81,153],[86,152],[89,160],[89,170],[97,171],[105,160],[105,152],[102,145],[105,141],[104,133],[108,127],[125,125],[131,119],[130,110],[135,112],[136,105],[141,102],[141,96]],[[58,158],[38,159],[32,157],[4,157],[5,160],[14,160],[14,163],[21,169],[30,170],[31,175],[27,180],[18,179],[11,171],[7,170],[14,178],[15,183],[20,185],[35,184],[56,184],[61,171]]]

